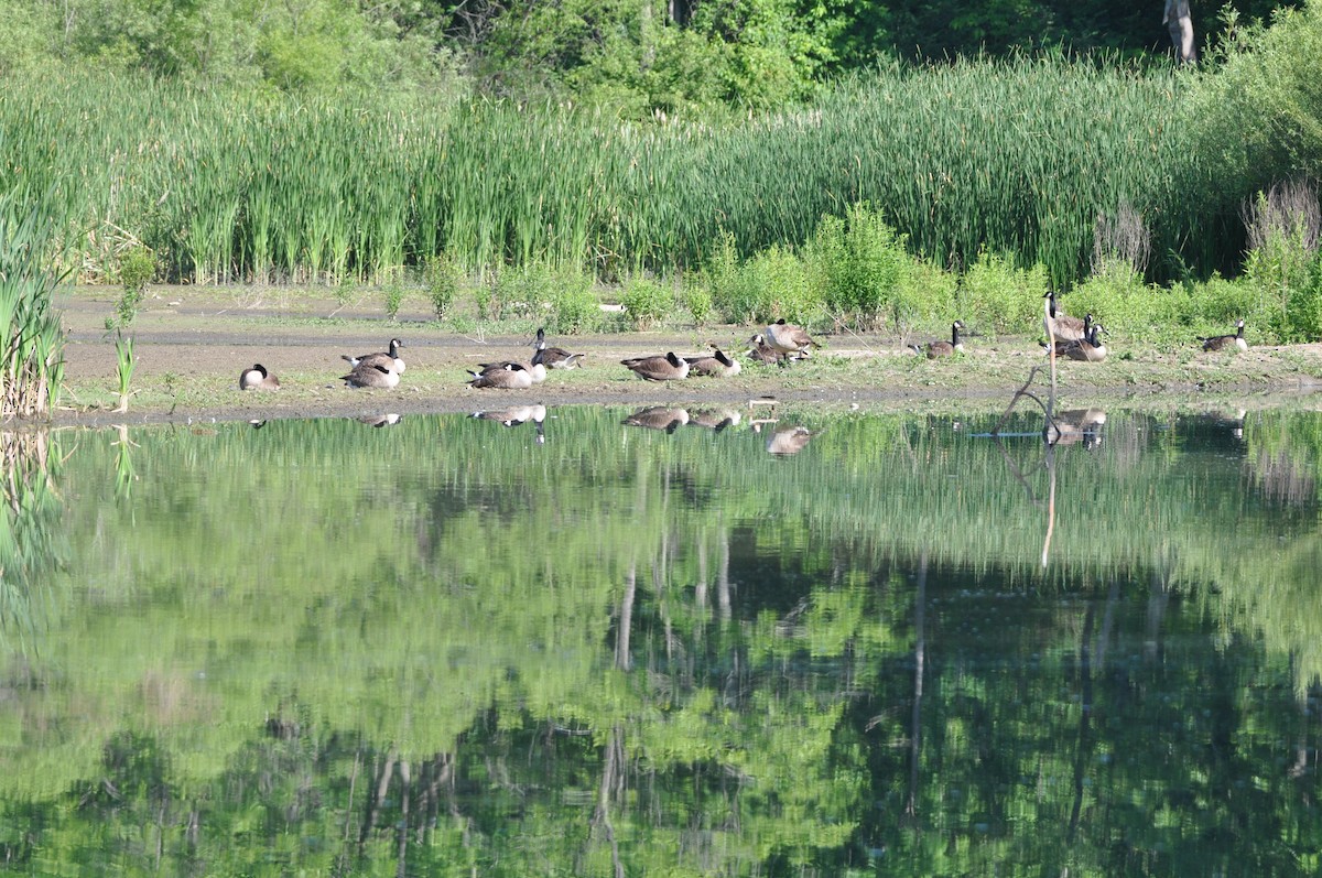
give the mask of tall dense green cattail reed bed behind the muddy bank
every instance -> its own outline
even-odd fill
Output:
[[[883,69],[812,111],[709,126],[70,75],[8,83],[0,134],[11,168],[70,194],[57,218],[87,275],[112,274],[115,238],[193,283],[379,279],[439,254],[469,270],[669,271],[702,264],[727,233],[744,255],[797,246],[867,202],[940,264],[986,246],[1064,282],[1122,205],[1158,253],[1196,263],[1224,243],[1179,93],[1174,73],[961,62]]]

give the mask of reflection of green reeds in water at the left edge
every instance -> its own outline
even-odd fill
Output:
[[[33,600],[66,554],[56,492],[59,450],[45,432],[0,432],[0,645],[36,628]]]

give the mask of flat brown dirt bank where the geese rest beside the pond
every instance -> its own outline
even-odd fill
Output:
[[[126,414],[115,414],[115,345],[104,323],[119,291],[79,288],[61,295],[57,308],[69,332],[65,387],[57,423],[135,423],[169,419],[250,419],[366,415],[394,411],[475,411],[512,402],[616,403],[740,402],[760,397],[888,409],[1003,405],[1042,361],[1035,339],[966,340],[962,357],[928,361],[906,353],[894,335],[836,333],[822,350],[789,369],[743,361],[730,379],[690,378],[674,383],[640,381],[623,357],[693,354],[717,342],[743,352],[752,329],[631,332],[555,337],[553,344],[587,354],[583,369],[553,372],[530,390],[475,390],[468,366],[526,358],[535,320],[506,324],[498,335],[455,332],[430,321],[424,303],[408,303],[395,321],[364,296],[341,301],[329,292],[288,288],[155,290],[135,319],[137,365]],[[476,324],[475,324],[476,325]],[[973,327],[976,332],[976,327]],[[383,350],[391,336],[406,342],[408,369],[394,390],[352,390],[337,381],[348,370],[345,353]],[[927,337],[919,339],[925,341]],[[1060,364],[1063,394],[1093,398],[1163,394],[1198,399],[1208,394],[1311,393],[1322,386],[1322,348],[1257,346],[1244,354],[1125,349],[1116,345],[1104,364]],[[280,377],[276,393],[243,393],[238,374],[260,362]],[[1072,403],[1071,403],[1072,405]]]

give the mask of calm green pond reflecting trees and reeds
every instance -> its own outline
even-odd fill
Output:
[[[1315,874],[1322,415],[7,434],[0,869]]]

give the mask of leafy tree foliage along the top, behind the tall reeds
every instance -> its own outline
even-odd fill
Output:
[[[1278,4],[1239,0],[1245,20]],[[1212,11],[1195,20],[1216,33]],[[882,57],[1167,52],[1116,0],[0,0],[0,73],[141,70],[305,94],[358,87],[599,102],[623,115],[779,107]]]

